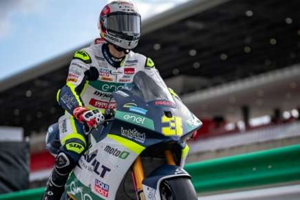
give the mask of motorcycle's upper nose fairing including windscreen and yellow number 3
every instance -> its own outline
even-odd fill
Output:
[[[132,113],[144,119],[143,123],[131,124],[146,133],[146,140],[142,143],[145,147],[175,141],[184,148],[191,133],[202,126],[180,98],[175,93],[171,95],[156,70],[139,71],[133,78],[133,86],[116,91],[113,97],[117,104],[116,119],[132,122],[128,116],[122,117],[122,113],[129,116]]]

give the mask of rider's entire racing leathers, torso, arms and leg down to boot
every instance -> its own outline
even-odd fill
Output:
[[[131,85],[133,76],[142,70],[156,70],[151,58],[129,52],[122,59],[111,56],[107,43],[81,49],[69,65],[67,84],[57,93],[65,115],[58,120],[61,148],[47,182],[44,199],[60,199],[65,182],[87,147],[83,124],[74,118],[74,109],[115,109],[111,93]],[[96,77],[95,77],[96,76]],[[109,103],[110,102],[110,103]]]

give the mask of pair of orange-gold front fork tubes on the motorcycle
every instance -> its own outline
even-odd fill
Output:
[[[175,159],[171,151],[164,151],[164,156],[166,158],[167,164],[175,165]],[[142,180],[144,179],[144,170],[142,168],[142,159],[140,156],[137,157],[136,161],[132,166],[133,184],[136,188],[136,193],[138,195],[138,200],[145,200],[144,192],[142,191]]]

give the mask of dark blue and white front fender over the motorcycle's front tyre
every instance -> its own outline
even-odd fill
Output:
[[[147,200],[160,200],[160,183],[164,179],[172,177],[189,177],[191,175],[186,172],[180,166],[175,165],[162,165],[142,181],[142,188],[144,191],[144,197]]]

